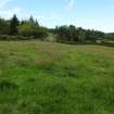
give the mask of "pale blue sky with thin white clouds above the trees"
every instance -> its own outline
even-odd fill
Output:
[[[40,25],[75,25],[114,33],[114,0],[0,0],[0,16],[33,15]]]

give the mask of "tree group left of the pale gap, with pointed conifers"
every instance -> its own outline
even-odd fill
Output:
[[[48,36],[47,28],[40,26],[37,20],[30,16],[20,21],[14,14],[11,20],[0,18],[0,35],[22,36],[33,39],[41,39]]]

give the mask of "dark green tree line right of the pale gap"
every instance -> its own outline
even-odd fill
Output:
[[[114,40],[113,33],[103,33],[94,29],[84,29],[74,25],[56,26],[52,31],[56,35],[58,41],[71,41],[71,42],[94,42],[97,40]]]

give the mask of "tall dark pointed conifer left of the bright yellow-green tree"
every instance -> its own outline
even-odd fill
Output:
[[[20,24],[18,18],[14,14],[13,17],[11,18],[10,23],[10,35],[17,35],[17,25]]]

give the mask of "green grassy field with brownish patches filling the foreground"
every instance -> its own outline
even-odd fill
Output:
[[[1,41],[0,114],[114,114],[114,48]]]

